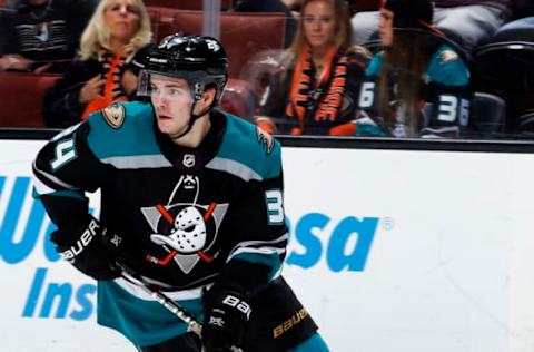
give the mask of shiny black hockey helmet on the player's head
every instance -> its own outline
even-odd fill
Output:
[[[200,99],[206,86],[215,85],[212,106],[216,106],[228,81],[228,57],[215,38],[175,33],[165,37],[147,55],[139,77],[138,95],[151,95],[150,74],[187,80],[194,101]]]

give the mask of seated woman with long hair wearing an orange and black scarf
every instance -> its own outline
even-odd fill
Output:
[[[352,135],[368,53],[350,46],[344,0],[306,0],[258,126],[291,135]],[[281,118],[279,118],[281,117]],[[273,123],[278,120],[278,124]]]

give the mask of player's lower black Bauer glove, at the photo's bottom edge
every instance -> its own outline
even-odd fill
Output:
[[[237,291],[215,284],[202,297],[202,344],[206,352],[227,352],[239,346],[250,319],[250,305]]]

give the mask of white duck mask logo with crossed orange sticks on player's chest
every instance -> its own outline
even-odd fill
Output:
[[[228,204],[197,204],[199,189],[198,177],[181,176],[167,205],[141,208],[154,231],[150,239],[167,252],[165,257],[147,255],[150,262],[158,265],[174,262],[188,274],[198,261],[212,261],[216,255],[212,245]]]

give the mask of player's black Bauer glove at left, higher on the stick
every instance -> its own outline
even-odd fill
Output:
[[[88,215],[86,221],[71,229],[57,229],[50,239],[63,260],[95,280],[111,280],[120,276],[113,263],[119,254],[122,237],[110,234],[100,223]]]

